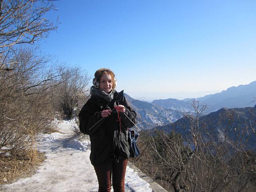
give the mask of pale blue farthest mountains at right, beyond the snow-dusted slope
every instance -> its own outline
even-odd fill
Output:
[[[201,101],[202,104],[207,105],[206,113],[210,113],[220,108],[241,108],[254,106],[255,102],[252,102],[256,97],[256,81],[251,82],[248,85],[233,86],[227,90],[223,90],[220,93],[206,95],[204,97],[195,98],[197,101]],[[165,99],[154,100],[152,104],[163,108],[171,108],[180,111],[193,111],[190,104],[191,98],[184,100],[177,99]]]

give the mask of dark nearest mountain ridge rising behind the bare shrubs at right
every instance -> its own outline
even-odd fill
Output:
[[[202,134],[210,134],[217,141],[234,142],[238,139],[245,142],[246,148],[256,150],[256,116],[249,111],[256,113],[256,105],[248,108],[222,108],[216,112],[204,115],[199,118],[199,126]],[[250,127],[252,127],[254,130]],[[158,129],[170,133],[174,128],[182,134],[183,138],[190,137],[190,120],[182,117],[174,123],[165,126],[158,126]]]

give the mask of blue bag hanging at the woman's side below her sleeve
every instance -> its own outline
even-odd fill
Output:
[[[130,157],[138,157],[140,155],[140,150],[137,147],[137,140],[139,138],[139,133],[135,130],[129,130],[128,132],[128,143],[130,147]]]

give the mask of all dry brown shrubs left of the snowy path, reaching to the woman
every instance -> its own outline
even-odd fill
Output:
[[[3,157],[3,164],[11,166],[5,166],[7,170],[14,168],[9,172],[3,169],[2,175],[12,178],[24,172],[21,167],[26,170],[26,167],[37,162],[37,136],[39,133],[56,131],[52,120],[56,118],[58,110],[58,114],[63,113],[59,104],[66,102],[64,98],[72,98],[66,102],[70,112],[86,100],[83,93],[88,80],[82,85],[79,83],[88,77],[86,74],[82,76],[82,72],[76,68],[70,69],[67,78],[65,68],[53,68],[49,65],[48,56],[40,56],[35,49],[24,46],[10,49],[2,62],[12,70],[0,70],[0,156]],[[72,77],[73,73],[77,75]],[[4,163],[6,160],[12,163]],[[9,173],[10,176],[6,176]]]

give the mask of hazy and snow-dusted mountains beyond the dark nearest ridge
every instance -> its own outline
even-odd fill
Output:
[[[185,114],[194,114],[194,108],[191,104],[192,98],[184,100],[169,98],[153,100],[149,103],[135,100],[128,94],[125,94],[125,97],[137,112],[139,126],[145,129],[174,123]],[[248,85],[233,86],[220,93],[195,98],[195,100],[199,101],[201,105],[207,106],[204,114],[202,114],[206,115],[221,108],[252,107],[255,104],[252,102],[255,97],[256,81]]]

